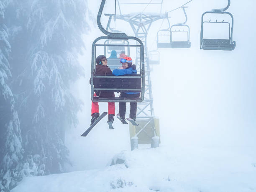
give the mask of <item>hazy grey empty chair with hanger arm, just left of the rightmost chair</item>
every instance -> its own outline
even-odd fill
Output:
[[[187,14],[185,12],[185,8],[187,8],[187,7],[182,7],[185,17],[186,17],[186,20],[184,21],[184,23],[178,23],[178,24],[171,26],[171,29],[170,29],[170,31],[171,31],[170,32],[170,38],[171,38],[170,47],[171,48],[189,48],[191,46],[191,43],[189,42],[189,33],[190,33],[189,26],[185,25],[185,23],[187,22]],[[179,28],[179,30],[177,30],[177,29],[173,30],[173,28],[175,28],[176,26]],[[183,30],[182,30],[182,28],[183,28]],[[184,28],[186,28],[186,30]],[[174,41],[173,34],[181,35],[184,33],[187,35],[187,41]]]

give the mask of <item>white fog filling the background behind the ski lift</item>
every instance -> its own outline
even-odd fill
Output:
[[[103,13],[114,13],[114,4],[110,5],[109,2],[110,0],[106,1]],[[85,78],[80,79],[72,89],[73,94],[82,100],[84,106],[78,114],[78,127],[66,132],[65,142],[73,164],[68,168],[69,171],[104,167],[116,153],[130,150],[128,125],[121,124],[116,117],[114,130],[108,130],[105,123],[107,120],[103,119],[87,137],[80,137],[89,127],[91,119],[91,45],[95,38],[105,36],[97,28],[96,22],[100,3],[100,0],[89,1],[94,20],[91,21],[90,35],[84,36],[86,50],[79,59],[85,70]],[[164,0],[161,13],[184,3],[187,3],[187,0]],[[148,31],[148,51],[157,49],[160,52],[160,64],[151,67],[154,114],[160,119],[160,146],[180,147],[184,150],[189,146],[225,146],[244,150],[256,145],[256,28],[253,23],[256,19],[256,2],[231,0],[227,11],[234,17],[235,50],[200,50],[202,13],[224,8],[226,5],[227,0],[192,0],[186,5],[186,24],[190,27],[189,49],[157,49],[157,31],[168,28],[166,20],[152,23]],[[140,8],[138,5],[123,7],[121,9],[127,13],[138,9],[138,12],[160,14],[161,9],[146,5],[141,5]],[[170,12],[169,16],[171,25],[184,21],[182,9]],[[108,18],[102,14],[102,26],[106,26],[107,21]],[[129,36],[134,35],[127,22],[116,20],[115,27]],[[221,29],[221,32],[226,32],[226,29]],[[215,36],[216,31],[208,29],[207,33],[209,36]],[[100,103],[100,113],[106,110],[107,104]],[[129,111],[129,108],[127,110]]]

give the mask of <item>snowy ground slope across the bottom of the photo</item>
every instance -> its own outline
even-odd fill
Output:
[[[104,169],[27,177],[11,192],[256,192],[253,148],[122,151]]]

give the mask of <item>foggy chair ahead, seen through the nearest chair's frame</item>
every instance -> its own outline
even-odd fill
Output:
[[[118,54],[120,54],[121,51],[125,50],[126,46],[123,45],[129,45],[129,41],[127,40],[106,40],[104,42],[105,46],[104,46],[104,55],[106,55],[106,53],[110,54],[111,51],[115,50],[117,53],[117,57]],[[120,45],[120,46],[111,46],[111,44],[113,45]],[[110,46],[108,46],[110,45]],[[107,50],[106,50],[107,49]],[[130,47],[127,46],[127,54],[130,55]],[[108,58],[108,67],[113,71],[114,69],[117,69],[118,67],[120,67],[120,59],[119,58]]]

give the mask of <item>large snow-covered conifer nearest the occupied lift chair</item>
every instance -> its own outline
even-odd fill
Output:
[[[13,2],[10,66],[25,149],[21,174],[60,173],[68,161],[64,130],[77,125],[82,105],[69,87],[84,75],[77,57],[90,29],[87,0]]]

